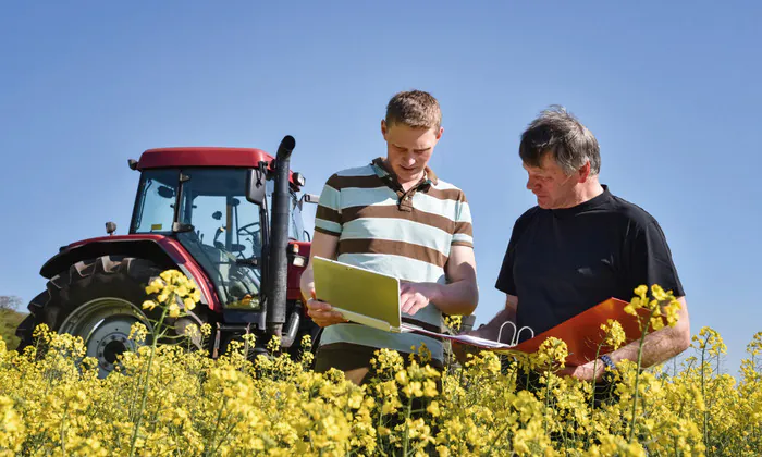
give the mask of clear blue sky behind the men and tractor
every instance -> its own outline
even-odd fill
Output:
[[[294,135],[318,194],[384,153],[388,99],[421,88],[444,114],[431,165],[471,202],[477,322],[503,306],[511,227],[534,203],[519,135],[558,103],[598,137],[601,181],[661,223],[693,333],[720,331],[735,372],[762,331],[762,7],[474,3],[2,3],[0,294],[32,299],[59,246],[106,221],[125,233],[145,149]]]

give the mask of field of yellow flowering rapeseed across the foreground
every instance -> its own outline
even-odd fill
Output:
[[[173,272],[148,292],[144,307],[164,317],[197,301]],[[655,302],[644,292],[634,306]],[[616,323],[607,330],[616,344]],[[140,325],[131,336],[139,349],[101,380],[78,338],[36,333],[22,354],[0,339],[0,455],[762,455],[762,332],[738,380],[715,371],[725,347],[704,328],[677,370],[622,363],[616,399],[601,404],[589,383],[553,374],[560,341],[516,360],[482,353],[443,373],[425,353],[404,363],[380,350],[376,379],[359,387],[310,371],[308,350],[278,354],[276,341],[248,338],[213,360],[193,345],[157,345]],[[271,355],[250,360],[253,344]],[[537,384],[517,390],[527,367]]]

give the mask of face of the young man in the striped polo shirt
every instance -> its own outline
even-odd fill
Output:
[[[385,121],[381,121],[381,133],[386,140],[386,160],[400,183],[422,177],[443,131],[442,127],[437,132],[403,124],[386,125]]]

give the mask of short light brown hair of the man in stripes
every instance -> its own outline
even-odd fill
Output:
[[[433,128],[442,125],[439,101],[429,92],[408,90],[395,94],[386,104],[386,125],[403,124],[413,128]]]

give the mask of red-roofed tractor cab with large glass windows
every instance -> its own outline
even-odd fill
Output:
[[[275,188],[272,162],[257,149],[148,150],[133,164],[142,174],[130,233],[176,238],[205,270],[224,310],[262,311]],[[297,195],[303,185],[304,177],[290,172],[291,242],[308,236]]]

